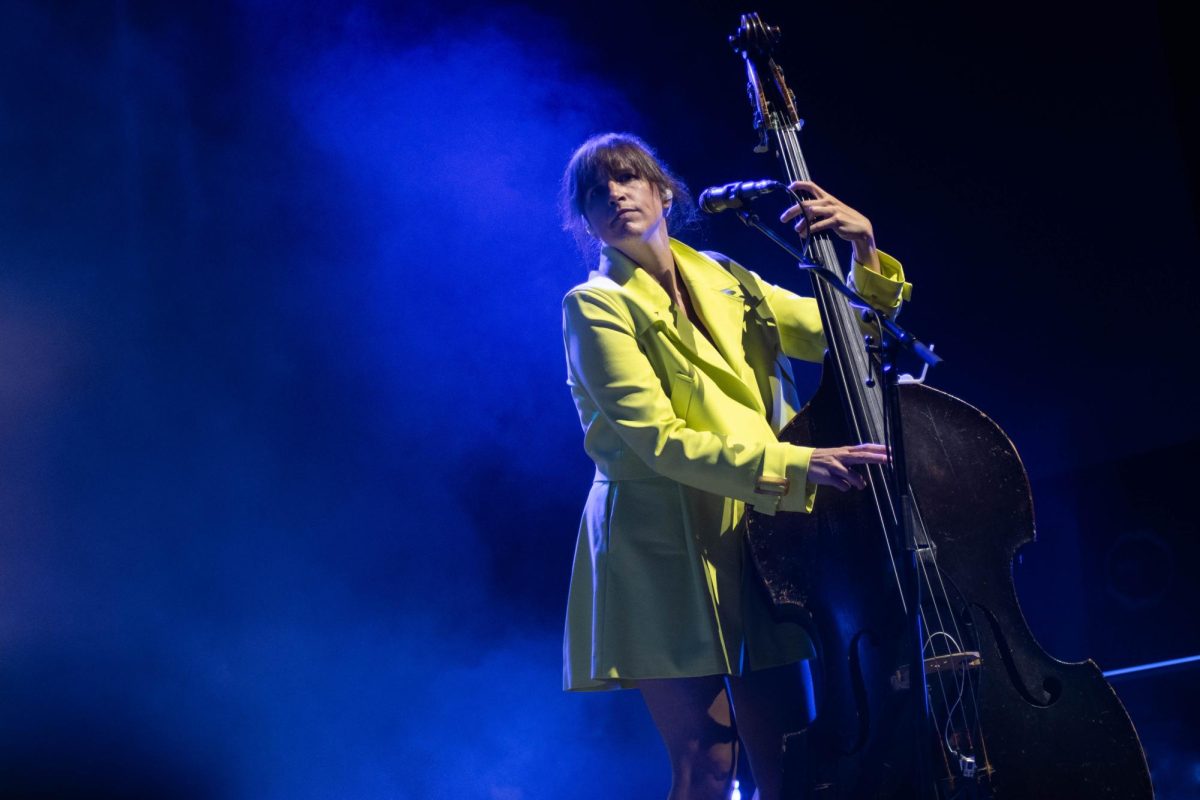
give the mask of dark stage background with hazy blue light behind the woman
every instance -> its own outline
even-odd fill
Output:
[[[931,383],[1021,450],[1034,633],[1200,652],[1181,12],[756,8]],[[666,793],[636,694],[559,691],[590,468],[553,198],[606,130],[697,191],[774,175],[748,10],[2,6],[0,793]],[[733,219],[684,237],[803,287]],[[1194,676],[1117,685],[1164,800],[1200,781]]]

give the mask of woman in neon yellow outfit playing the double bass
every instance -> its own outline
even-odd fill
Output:
[[[852,279],[884,309],[906,296],[870,222],[818,186],[784,212],[804,235],[854,251]],[[798,447],[787,356],[820,361],[816,302],[668,235],[683,184],[640,139],[586,142],[563,176],[564,225],[600,265],[563,300],[568,384],[596,464],[575,554],[564,642],[568,690],[636,687],[667,746],[671,800],[724,798],[736,736],[763,800],[780,792],[780,742],[811,709],[798,625],[772,618],[745,564],[746,505],[812,510],[817,486],[865,481],[881,445]],[[732,700],[732,710],[731,710]]]

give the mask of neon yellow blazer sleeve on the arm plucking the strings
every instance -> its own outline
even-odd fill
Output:
[[[754,505],[758,511],[811,511],[808,485],[812,450],[781,441],[696,431],[679,419],[640,349],[632,318],[595,289],[563,300],[563,336],[571,378],[629,449],[659,475]],[[782,495],[762,494],[786,479]]]

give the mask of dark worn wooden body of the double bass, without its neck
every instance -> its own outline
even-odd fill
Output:
[[[1099,669],[1048,656],[1018,606],[1012,559],[1033,540],[1033,506],[1013,444],[950,395],[918,384],[899,391],[929,545],[916,558],[937,729],[912,722],[926,693],[910,680],[919,672],[872,487],[822,489],[812,515],[754,515],[760,577],[775,608],[809,627],[820,656],[817,717],[790,742],[787,796],[1152,798],[1138,735]],[[845,420],[826,381],[781,439],[840,446],[852,440]],[[934,794],[914,784],[918,748],[934,753]]]

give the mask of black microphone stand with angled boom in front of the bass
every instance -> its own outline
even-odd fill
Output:
[[[802,270],[817,275],[822,281],[824,281],[826,285],[838,290],[854,306],[860,306],[866,309],[871,308],[871,305],[862,295],[847,287],[838,273],[827,266],[809,261],[805,258],[805,254],[797,249],[790,241],[766,227],[758,218],[757,213],[750,211],[749,209],[737,209],[737,213],[738,218],[742,219],[743,223],[758,230],[791,254]],[[912,333],[888,319],[887,315],[874,311],[865,311],[864,319],[868,318],[868,315],[874,317],[878,321],[882,333],[887,333],[887,336],[881,336],[881,341],[875,347],[871,347],[870,341],[868,339],[866,349],[869,353],[878,355],[878,372],[882,383],[884,414],[883,444],[888,446],[892,455],[892,469],[886,473],[886,475],[890,477],[892,483],[892,513],[893,518],[898,521],[898,524],[893,525],[890,531],[892,547],[895,553],[907,552],[910,554],[910,558],[907,559],[896,560],[899,565],[902,565],[899,570],[900,584],[907,608],[908,628],[911,632],[910,640],[912,648],[910,650],[908,674],[905,675],[901,672],[901,674],[894,675],[892,680],[895,688],[920,690],[920,702],[919,704],[913,704],[912,721],[914,742],[917,742],[916,786],[919,787],[918,790],[928,792],[929,796],[936,800],[937,789],[931,780],[932,769],[929,763],[929,748],[922,745],[922,742],[926,740],[929,733],[935,730],[936,723],[934,722],[932,710],[929,705],[929,693],[926,691],[928,684],[925,682],[925,652],[923,646],[925,640],[925,625],[920,607],[920,576],[917,567],[917,560],[920,558],[922,548],[928,548],[932,545],[929,542],[928,537],[923,537],[924,541],[918,541],[917,539],[919,524],[917,523],[914,515],[912,494],[908,491],[908,476],[905,469],[906,462],[904,452],[904,429],[901,427],[900,417],[899,371],[896,368],[896,355],[899,350],[911,353],[930,367],[940,363],[942,357],[929,349],[928,345],[917,339]]]

